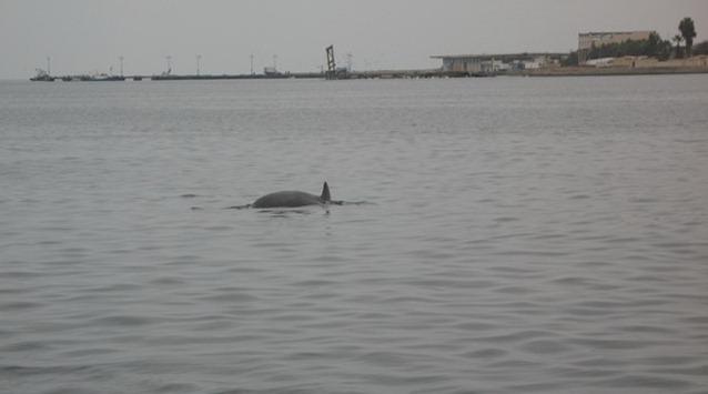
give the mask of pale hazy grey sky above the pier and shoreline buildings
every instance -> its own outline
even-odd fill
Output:
[[[567,51],[581,31],[708,39],[706,0],[0,0],[0,79],[53,74],[315,71],[324,47],[355,69],[438,67],[432,54]]]

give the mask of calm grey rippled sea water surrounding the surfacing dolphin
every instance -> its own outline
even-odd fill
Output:
[[[0,82],[2,393],[707,393],[708,75]],[[362,205],[224,210],[277,190]]]

